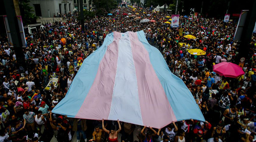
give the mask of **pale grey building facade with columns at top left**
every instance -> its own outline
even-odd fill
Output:
[[[30,0],[33,13],[38,17],[54,17],[58,13],[65,14],[74,11],[75,0]]]

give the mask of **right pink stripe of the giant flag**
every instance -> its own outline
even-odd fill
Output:
[[[171,123],[177,119],[151,65],[148,51],[139,41],[137,33],[129,32],[129,37],[138,82],[143,124],[160,129],[167,124],[166,122]]]

